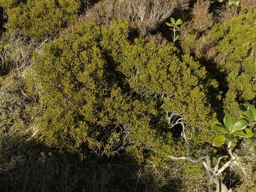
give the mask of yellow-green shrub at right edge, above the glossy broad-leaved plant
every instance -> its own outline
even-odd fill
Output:
[[[239,105],[254,103],[256,96],[256,9],[243,10],[241,15],[215,25],[210,36],[215,38],[218,54],[214,58],[222,74],[222,89],[226,92],[223,107],[230,114]],[[225,85],[224,85],[225,84]]]

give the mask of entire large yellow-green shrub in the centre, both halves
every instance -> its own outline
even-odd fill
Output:
[[[39,125],[48,146],[108,156],[126,149],[141,163],[149,151],[163,155],[161,145],[171,153],[171,111],[209,136],[198,140],[211,142],[205,69],[172,44],[149,44],[133,31],[124,21],[108,29],[78,23],[35,55],[45,106]],[[165,136],[170,140],[159,139]]]

